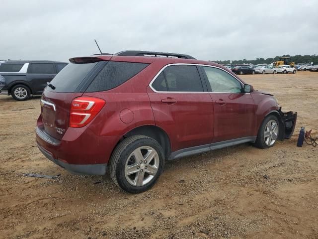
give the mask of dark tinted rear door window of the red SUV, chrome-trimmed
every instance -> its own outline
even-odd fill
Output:
[[[174,65],[163,70],[167,90],[175,92],[203,92],[203,86],[196,66]],[[157,79],[156,79],[157,80]]]

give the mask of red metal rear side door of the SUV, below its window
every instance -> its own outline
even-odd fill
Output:
[[[156,93],[148,88],[156,125],[170,137],[176,151],[212,142],[213,102],[209,93]],[[162,103],[163,99],[176,103]]]

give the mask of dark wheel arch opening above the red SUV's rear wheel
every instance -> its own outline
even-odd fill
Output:
[[[164,156],[168,157],[171,153],[171,144],[168,134],[160,127],[156,125],[142,125],[131,129],[125,133],[121,140],[133,135],[145,135],[155,139],[161,145]],[[121,141],[120,140],[120,141]]]

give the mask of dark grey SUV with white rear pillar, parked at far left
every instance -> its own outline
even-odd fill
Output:
[[[68,63],[55,61],[6,61],[0,64],[5,79],[0,94],[11,95],[17,101],[30,95],[41,95],[50,82]]]

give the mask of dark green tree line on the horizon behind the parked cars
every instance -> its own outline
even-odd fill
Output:
[[[233,60],[232,65],[235,64],[270,64],[273,63],[274,61],[279,61],[280,57],[290,57],[290,62],[295,62],[295,63],[311,63],[314,62],[314,64],[318,65],[318,55],[296,55],[296,56],[290,56],[290,55],[283,55],[283,56],[276,56],[274,58],[256,58],[255,60]],[[230,64],[230,60],[226,61],[213,61],[218,64]]]

